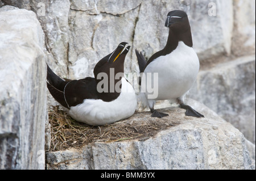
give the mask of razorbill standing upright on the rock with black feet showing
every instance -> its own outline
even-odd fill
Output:
[[[169,28],[166,46],[153,54],[148,61],[135,49],[139,70],[144,72],[141,78],[141,85],[144,85],[142,102],[150,108],[152,117],[168,116],[166,113],[154,110],[156,100],[166,99],[176,100],[181,108],[187,110],[185,112],[187,116],[204,117],[192,107],[184,104],[184,96],[196,81],[200,66],[199,58],[192,48],[188,16],[184,11],[171,11],[167,15],[165,26]],[[153,86],[156,83],[152,73],[158,73],[158,89],[154,89],[158,91],[158,95],[155,98],[150,98],[151,85],[147,85],[148,79],[151,79]]]

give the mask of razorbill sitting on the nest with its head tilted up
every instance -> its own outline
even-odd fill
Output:
[[[123,63],[130,46],[123,42],[94,67],[93,77],[64,81],[47,65],[47,87],[53,98],[75,120],[105,125],[123,120],[136,110],[133,86],[123,75]]]

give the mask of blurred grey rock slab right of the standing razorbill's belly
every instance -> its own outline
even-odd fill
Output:
[[[200,71],[189,96],[217,112],[255,144],[255,55]]]

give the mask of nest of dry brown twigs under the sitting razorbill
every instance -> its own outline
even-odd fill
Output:
[[[166,119],[152,118],[150,114],[145,116],[142,112],[117,123],[93,127],[72,119],[59,106],[50,106],[48,115],[51,124],[49,151],[65,150],[70,147],[80,148],[95,141],[144,140],[177,124]]]

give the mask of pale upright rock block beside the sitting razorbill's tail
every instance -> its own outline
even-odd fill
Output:
[[[32,11],[0,9],[0,169],[44,169],[44,34]]]

